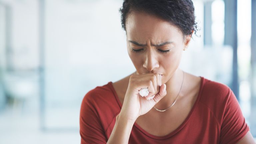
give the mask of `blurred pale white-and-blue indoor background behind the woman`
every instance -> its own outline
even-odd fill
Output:
[[[194,0],[180,67],[228,85],[256,137],[256,0]],[[0,0],[0,143],[80,143],[84,95],[135,71],[122,0]]]

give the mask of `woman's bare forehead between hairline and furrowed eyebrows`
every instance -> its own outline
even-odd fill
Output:
[[[126,19],[126,32],[128,39],[141,41],[143,39],[167,41],[177,36],[182,37],[182,32],[170,22],[154,15],[134,11],[129,13]]]

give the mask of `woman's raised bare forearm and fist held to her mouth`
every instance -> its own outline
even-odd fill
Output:
[[[148,96],[139,95],[139,90],[142,88],[148,88]],[[116,123],[107,144],[128,144],[136,119],[150,111],[166,94],[166,85],[162,84],[160,74],[132,75],[122,109],[116,116]]]

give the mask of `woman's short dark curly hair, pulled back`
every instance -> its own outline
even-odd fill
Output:
[[[121,12],[122,28],[131,11],[145,12],[176,25],[183,35],[192,35],[198,31],[195,22],[194,5],[191,0],[124,0]]]

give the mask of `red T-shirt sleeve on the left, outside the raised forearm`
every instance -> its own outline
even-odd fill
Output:
[[[85,95],[80,110],[81,144],[106,144],[107,138],[96,110],[90,102],[89,93]]]

